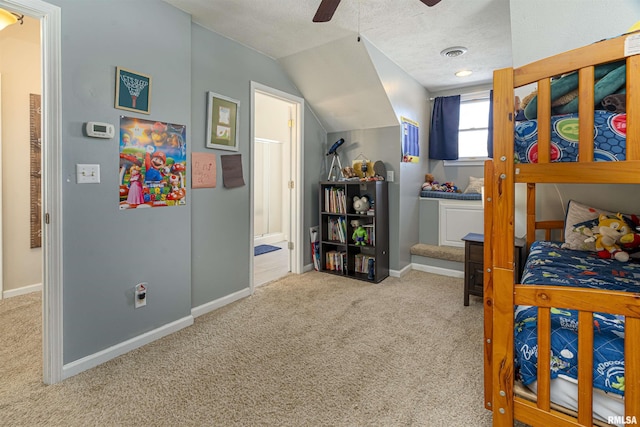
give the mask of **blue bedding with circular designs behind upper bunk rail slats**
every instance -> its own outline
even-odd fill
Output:
[[[593,139],[595,161],[625,160],[627,115],[605,110],[594,111]],[[517,122],[516,162],[538,162],[538,121]],[[551,161],[578,161],[578,114],[551,117]]]

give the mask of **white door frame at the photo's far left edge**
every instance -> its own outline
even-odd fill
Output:
[[[62,323],[61,9],[41,0],[0,0],[0,7],[40,20],[42,55],[42,359],[43,381],[64,379]]]

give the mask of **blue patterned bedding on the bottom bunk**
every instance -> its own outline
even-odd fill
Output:
[[[562,249],[561,243],[535,242],[521,282],[640,292],[640,264],[601,259],[595,252]],[[537,307],[515,311],[516,368],[527,385],[537,380]],[[624,394],[624,317],[594,313],[593,385]],[[551,378],[578,378],[578,312],[551,309]]]

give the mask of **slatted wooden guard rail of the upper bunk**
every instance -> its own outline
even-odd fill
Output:
[[[627,117],[640,116],[640,55],[625,57],[625,37],[603,40],[513,70],[513,88],[536,83],[538,87],[538,164],[520,164],[516,182],[638,183],[640,170],[640,123],[627,120],[626,161],[615,169],[594,162],[594,69],[596,65],[624,60],[626,63]],[[549,70],[553,70],[550,74]],[[578,161],[551,163],[551,77],[577,71],[579,78]],[[513,99],[513,96],[511,97]],[[544,165],[544,166],[542,166]],[[541,167],[542,166],[542,167]],[[549,169],[551,168],[551,169]]]

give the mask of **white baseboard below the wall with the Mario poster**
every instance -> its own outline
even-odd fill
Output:
[[[131,350],[135,350],[136,348],[173,334],[174,332],[178,332],[180,329],[184,329],[191,325],[193,325],[193,316],[186,316],[182,319],[178,319],[154,329],[153,331],[146,332],[120,344],[116,344],[97,353],[83,357],[82,359],[67,363],[62,367],[62,379],[67,379],[79,374],[80,372],[86,371],[87,369],[94,368],[111,359],[122,356]]]

